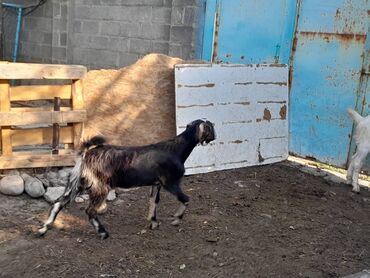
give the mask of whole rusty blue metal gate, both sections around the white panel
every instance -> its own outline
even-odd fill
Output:
[[[368,0],[207,0],[202,58],[289,64],[290,152],[345,167],[346,108],[370,109],[368,33]]]

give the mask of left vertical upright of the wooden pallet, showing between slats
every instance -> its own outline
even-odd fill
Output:
[[[0,80],[0,111],[10,111],[9,82],[5,80]],[[12,154],[12,141],[10,133],[10,125],[1,126],[1,151],[3,155]]]

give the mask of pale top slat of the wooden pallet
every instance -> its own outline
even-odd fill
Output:
[[[86,72],[80,65],[0,63],[0,79],[82,79]]]

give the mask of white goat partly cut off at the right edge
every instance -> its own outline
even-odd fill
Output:
[[[354,138],[357,145],[356,153],[352,156],[347,170],[347,183],[352,184],[352,191],[360,192],[358,175],[367,154],[370,152],[370,115],[362,117],[351,108],[348,108],[347,112],[356,126]]]

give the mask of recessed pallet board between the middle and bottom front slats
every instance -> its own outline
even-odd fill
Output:
[[[26,145],[51,144],[53,133],[51,128],[14,129],[11,131],[13,147]],[[73,143],[71,126],[60,127],[60,143]]]

